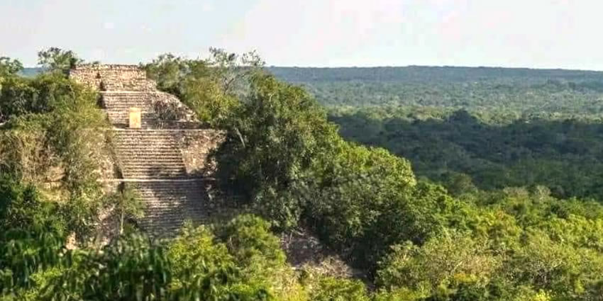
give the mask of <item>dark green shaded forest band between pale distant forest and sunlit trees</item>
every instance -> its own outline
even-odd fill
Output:
[[[544,185],[563,198],[603,196],[598,120],[411,108],[333,112],[331,120],[347,139],[408,158],[417,175],[455,194]]]

